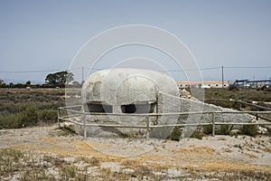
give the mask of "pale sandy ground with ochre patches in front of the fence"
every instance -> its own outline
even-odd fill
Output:
[[[118,169],[119,162],[132,159],[152,167],[204,172],[259,171],[271,175],[271,139],[267,136],[215,136],[186,141],[129,138],[60,136],[56,125],[0,130],[0,148],[19,148],[60,157],[100,157],[101,167]]]

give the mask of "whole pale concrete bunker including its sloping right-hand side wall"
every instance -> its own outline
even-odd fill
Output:
[[[181,97],[180,97],[181,94]],[[189,96],[191,98],[191,96]],[[182,91],[168,75],[141,69],[107,69],[97,71],[85,81],[81,90],[82,111],[98,112],[86,116],[87,124],[146,126],[145,113],[196,111],[233,111],[200,100],[183,98]],[[112,115],[111,113],[116,113]],[[136,114],[133,116],[133,114]],[[125,115],[125,116],[124,116]],[[210,114],[151,116],[150,126],[174,123],[211,122]],[[248,114],[218,114],[217,122],[249,122]],[[83,121],[83,120],[81,120]],[[151,138],[167,138],[173,127],[151,129]],[[79,134],[83,128],[77,127]],[[145,135],[146,129],[88,127],[91,137],[122,137]]]

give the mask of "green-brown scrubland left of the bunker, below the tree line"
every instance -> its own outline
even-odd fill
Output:
[[[0,89],[0,129],[51,124],[64,106],[64,90]]]

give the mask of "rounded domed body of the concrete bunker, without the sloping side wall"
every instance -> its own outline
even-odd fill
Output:
[[[126,115],[88,115],[87,123],[145,126],[146,116],[133,114],[179,111],[180,101],[167,101],[165,94],[175,98],[180,95],[175,81],[162,72],[127,68],[97,71],[83,85],[82,111]],[[177,119],[178,116],[149,117],[150,125],[170,124]],[[88,136],[107,137],[144,135],[145,129],[92,127],[87,132]]]

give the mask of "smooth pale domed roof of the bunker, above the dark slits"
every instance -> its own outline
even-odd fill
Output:
[[[179,97],[175,81],[165,73],[143,69],[107,69],[91,74],[85,81],[82,101],[110,105],[156,101],[158,92]]]

